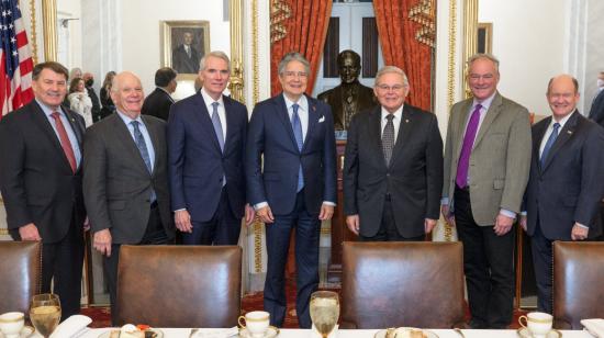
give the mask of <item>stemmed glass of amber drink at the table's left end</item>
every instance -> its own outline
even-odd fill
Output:
[[[36,294],[30,304],[30,320],[45,338],[55,330],[60,319],[60,301],[52,293]]]

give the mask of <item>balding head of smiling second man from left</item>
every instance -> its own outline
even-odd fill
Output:
[[[123,71],[113,78],[111,99],[119,112],[136,119],[143,108],[143,84],[141,79],[131,71]]]

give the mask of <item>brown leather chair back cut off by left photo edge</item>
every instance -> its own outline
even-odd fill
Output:
[[[0,241],[0,314],[19,311],[26,316],[30,300],[40,293],[42,244]]]

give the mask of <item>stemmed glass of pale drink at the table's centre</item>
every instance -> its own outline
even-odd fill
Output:
[[[338,295],[332,291],[316,291],[311,295],[311,319],[323,338],[327,338],[339,317]]]

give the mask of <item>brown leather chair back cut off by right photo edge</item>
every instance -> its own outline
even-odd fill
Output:
[[[604,318],[604,243],[553,243],[553,320],[581,329],[581,319]]]

